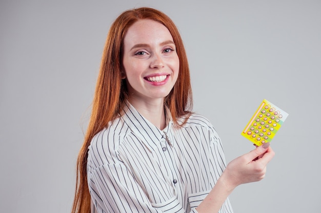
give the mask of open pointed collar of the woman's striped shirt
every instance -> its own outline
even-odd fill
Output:
[[[168,107],[165,106],[166,127],[163,130],[158,129],[155,125],[150,123],[143,115],[141,115],[128,101],[125,104],[122,113],[124,122],[128,125],[131,131],[149,146],[152,150],[160,146],[159,141],[165,138],[169,145],[173,146],[173,135],[171,129],[173,128],[172,116]]]

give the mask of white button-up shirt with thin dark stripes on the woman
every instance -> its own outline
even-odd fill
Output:
[[[127,103],[93,137],[87,164],[92,213],[197,212],[226,168],[222,144],[201,115],[179,128],[168,109],[166,117],[159,130]],[[219,212],[233,212],[229,199]]]

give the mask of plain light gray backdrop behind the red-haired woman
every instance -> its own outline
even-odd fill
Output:
[[[194,111],[229,162],[267,99],[290,115],[263,181],[232,193],[235,212],[319,212],[321,1],[0,2],[0,211],[69,212],[105,38],[126,9],[167,13],[184,39]]]

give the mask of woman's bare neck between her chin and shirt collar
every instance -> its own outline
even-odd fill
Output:
[[[157,99],[149,102],[129,99],[129,102],[139,113],[141,113],[150,123],[155,125],[157,128],[162,130],[166,127],[164,99]]]

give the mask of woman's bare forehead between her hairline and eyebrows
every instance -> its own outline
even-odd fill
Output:
[[[142,19],[136,21],[128,28],[124,44],[126,48],[126,44],[156,44],[165,40],[173,41],[173,37],[162,23],[150,19]]]

